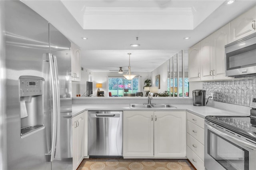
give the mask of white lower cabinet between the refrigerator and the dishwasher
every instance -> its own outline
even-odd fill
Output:
[[[72,118],[73,170],[84,159],[84,112]]]

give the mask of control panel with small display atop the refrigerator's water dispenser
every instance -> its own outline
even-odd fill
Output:
[[[20,97],[42,95],[42,79],[20,78]]]

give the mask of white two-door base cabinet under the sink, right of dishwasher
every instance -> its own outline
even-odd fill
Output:
[[[186,157],[184,111],[124,111],[124,157]]]

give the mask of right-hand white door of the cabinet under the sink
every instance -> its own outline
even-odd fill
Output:
[[[186,112],[154,112],[154,157],[186,157]]]

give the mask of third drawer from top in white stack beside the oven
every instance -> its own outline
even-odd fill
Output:
[[[187,145],[193,150],[202,160],[204,160],[204,145],[198,142],[190,134],[187,133]]]

